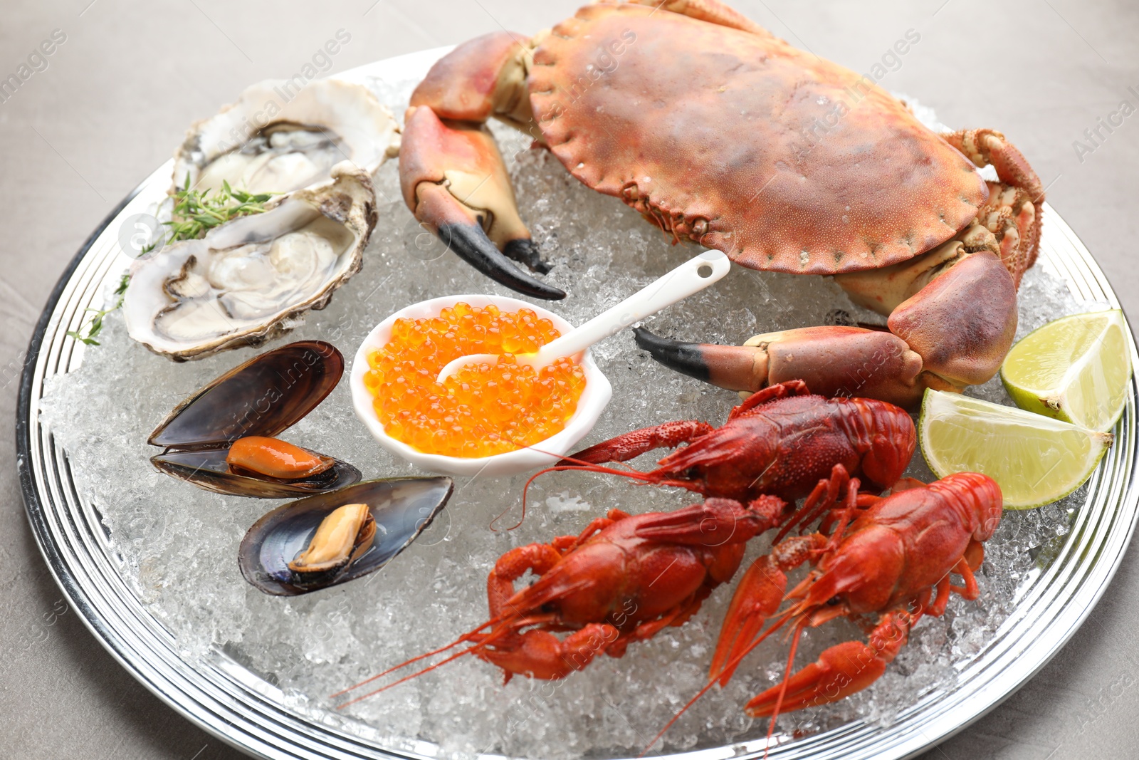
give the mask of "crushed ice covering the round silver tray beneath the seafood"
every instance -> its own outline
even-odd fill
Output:
[[[402,113],[411,82],[371,84],[394,113]],[[927,111],[921,114],[934,119]],[[571,294],[554,307],[570,321],[598,313],[691,255],[669,245],[616,199],[583,187],[550,154],[527,149],[524,136],[493,129],[510,164],[523,216],[555,265],[547,279]],[[351,357],[376,322],[408,303],[450,293],[508,294],[443,255],[434,238],[423,237],[400,201],[395,162],[378,172],[377,189],[382,222],[363,271],[327,309],[308,314],[277,344],[323,338]],[[1047,262],[1036,265],[1021,287],[1017,336],[1088,308],[1071,296]],[[739,343],[760,332],[844,320],[883,321],[851,304],[827,278],[737,268],[716,286],[654,317],[650,327],[685,340]],[[526,476],[458,479],[441,518],[384,571],[308,596],[265,596],[241,579],[236,551],[246,529],[280,501],[218,496],[158,474],[148,464],[155,451],[146,444],[148,433],[178,401],[253,353],[231,351],[174,363],[131,342],[118,313],[107,319],[104,335],[101,346],[87,351],[81,369],[51,379],[42,418],[67,450],[82,497],[104,515],[124,579],[170,630],[183,656],[222,652],[280,689],[285,704],[311,720],[393,750],[421,751],[421,742],[434,743],[441,757],[636,752],[703,686],[730,588],[718,589],[683,627],[631,646],[624,659],[599,657],[560,683],[515,678],[503,686],[498,669],[468,657],[344,713],[331,710],[335,703],[327,695],[449,643],[485,620],[483,579],[507,549],[575,534],[613,507],[632,513],[674,509],[694,497],[607,476],[550,473],[531,489],[523,526],[494,532],[487,526],[500,512],[519,514]],[[613,382],[614,402],[583,444],[671,419],[721,423],[738,401],[734,393],[659,368],[636,349],[628,330],[595,352]],[[970,392],[1009,403],[995,379]],[[286,438],[352,461],[366,477],[415,473],[357,424],[346,382]],[[931,480],[920,455],[915,459],[909,474]],[[648,463],[645,457],[634,464]],[[1006,512],[986,545],[977,602],[954,597],[943,618],[925,619],[916,628],[880,681],[837,704],[785,714],[779,729],[810,734],[855,718],[888,725],[919,696],[951,689],[958,668],[992,638],[1018,589],[1023,593],[1064,541],[1083,498],[1080,489],[1040,509]],[[745,563],[765,548],[765,541],[755,541]],[[806,631],[798,663],[860,635],[842,620]],[[767,722],[747,719],[740,706],[781,677],[784,661],[779,641],[757,649],[728,688],[710,692],[670,730],[665,747],[762,737]]]

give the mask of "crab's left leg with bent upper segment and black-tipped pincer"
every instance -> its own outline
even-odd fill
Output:
[[[521,293],[565,293],[526,275],[510,259],[546,273],[494,138],[491,116],[525,129],[530,47],[507,32],[487,34],[440,59],[411,95],[400,150],[403,199],[420,222],[475,269]]]

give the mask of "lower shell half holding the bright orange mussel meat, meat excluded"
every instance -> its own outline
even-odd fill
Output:
[[[150,457],[150,464],[167,475],[188,481],[207,491],[260,499],[287,499],[323,493],[360,480],[360,471],[339,459],[335,459],[335,464],[325,472],[309,477],[287,480],[256,473],[243,474],[229,466],[226,461],[227,453],[228,449],[166,451]],[[310,451],[310,453],[317,452]]]

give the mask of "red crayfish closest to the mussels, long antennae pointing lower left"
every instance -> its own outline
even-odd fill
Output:
[[[514,548],[486,580],[490,620],[333,696],[465,643],[470,646],[384,688],[465,654],[498,665],[507,681],[515,673],[565,678],[597,654],[620,657],[630,643],[691,618],[736,573],[747,541],[778,525],[786,507],[778,497],[761,496],[746,507],[712,498],[671,513],[633,516],[613,509],[580,536]],[[515,591],[515,581],[527,570],[538,580]],[[564,639],[551,632],[565,630],[572,632]]]

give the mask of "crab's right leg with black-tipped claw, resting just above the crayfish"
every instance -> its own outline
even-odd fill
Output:
[[[825,395],[859,395],[913,409],[926,387],[961,390],[989,381],[1016,335],[1016,286],[989,251],[964,253],[960,242],[913,262],[836,277],[874,279],[890,332],[860,327],[806,327],[756,335],[743,346],[679,343],[637,332],[637,344],[661,363],[736,391],[802,378]],[[948,269],[941,268],[949,253]],[[936,272],[931,270],[937,269]],[[929,277],[926,277],[926,276]],[[915,281],[926,284],[898,301]],[[860,283],[861,284],[861,283]],[[853,294],[852,294],[853,296]]]

